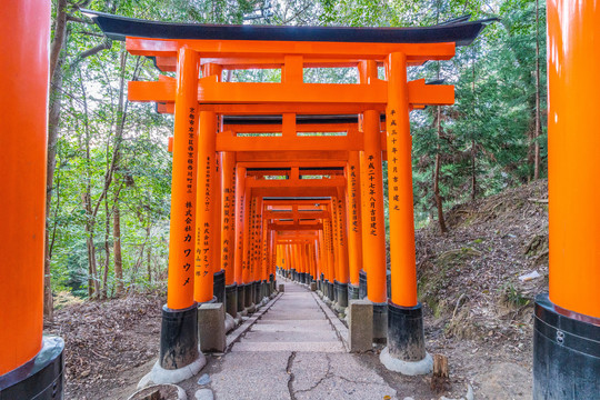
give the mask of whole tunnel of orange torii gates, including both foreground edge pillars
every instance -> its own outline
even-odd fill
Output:
[[[600,189],[590,184],[600,171],[600,9],[569,3],[548,1],[550,293],[536,299],[536,399],[600,392]],[[156,367],[193,364],[206,329],[198,310],[221,302],[228,313],[251,312],[279,272],[317,283],[338,310],[367,298],[373,340],[387,341],[382,362],[428,372],[409,112],[451,104],[453,88],[408,81],[407,68],[451,59],[486,21],[299,28],[88,16],[131,54],[176,72],[129,83],[130,100],[174,113],[168,300]],[[49,0],[9,1],[0,13],[0,48],[10,54],[0,67],[0,400],[62,398],[64,343],[42,336],[49,23]],[[357,68],[359,82],[303,82],[304,68],[337,67]],[[221,79],[224,70],[266,68],[281,69],[281,82]]]

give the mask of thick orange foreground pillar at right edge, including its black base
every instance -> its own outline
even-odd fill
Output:
[[[550,293],[536,298],[533,399],[600,393],[600,9],[548,1]]]

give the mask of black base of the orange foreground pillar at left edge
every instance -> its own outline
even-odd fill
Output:
[[[0,399],[62,399],[63,351],[61,338],[44,336],[36,357],[0,376]]]

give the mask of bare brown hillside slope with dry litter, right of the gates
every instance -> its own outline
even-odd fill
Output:
[[[548,291],[548,186],[459,204],[417,231],[428,349],[449,357],[456,394],[531,398],[533,298]],[[537,271],[540,277],[519,277]]]

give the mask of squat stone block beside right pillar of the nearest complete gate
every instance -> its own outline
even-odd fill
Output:
[[[373,303],[369,300],[350,300],[348,307],[348,341],[351,352],[372,349]]]

